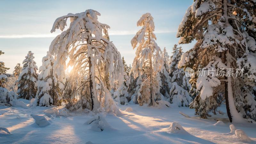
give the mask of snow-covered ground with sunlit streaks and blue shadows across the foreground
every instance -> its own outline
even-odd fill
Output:
[[[27,100],[22,100],[26,104]],[[131,107],[132,112],[124,111]],[[70,113],[71,116],[56,116],[50,125],[39,127],[31,114],[45,114],[49,107],[8,108],[0,107],[0,127],[7,128],[11,134],[0,131],[0,143],[244,143],[230,132],[230,123],[217,124],[214,117],[199,119],[186,118],[179,111],[194,116],[189,108],[152,108],[139,105],[119,106],[123,116],[106,115],[110,127],[102,132],[95,131],[92,125],[84,124],[92,118],[92,113]],[[223,108],[224,109],[224,108]],[[221,115],[217,115],[220,117]],[[223,116],[222,116],[223,117]],[[225,116],[224,116],[225,117]],[[215,118],[216,119],[216,118]],[[178,122],[188,133],[170,133],[169,126]],[[256,124],[234,124],[256,143]],[[2,132],[2,133],[1,133]]]

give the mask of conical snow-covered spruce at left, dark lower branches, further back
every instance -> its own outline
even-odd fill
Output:
[[[34,53],[28,52],[28,55],[23,60],[23,67],[20,72],[20,76],[17,81],[18,90],[17,94],[19,98],[30,100],[36,96],[37,73],[38,70],[36,62],[34,61]]]

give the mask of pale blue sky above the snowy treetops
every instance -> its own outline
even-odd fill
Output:
[[[140,27],[137,20],[146,12],[151,13],[155,22],[157,44],[166,47],[171,55],[172,47],[178,43],[175,37],[178,25],[193,0],[2,0],[0,21],[0,50],[5,52],[0,60],[9,67],[12,73],[16,63],[22,63],[28,51],[34,52],[37,66],[42,65],[42,57],[46,55],[54,36],[50,30],[56,18],[68,13],[84,12],[94,9],[101,13],[99,21],[108,24],[110,41],[124,56],[128,65],[132,64],[135,50],[130,41]],[[181,45],[184,51],[192,48],[192,44]]]

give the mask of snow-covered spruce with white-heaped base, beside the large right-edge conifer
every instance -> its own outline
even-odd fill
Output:
[[[170,58],[169,74],[172,77],[172,87],[170,89],[170,103],[176,104],[179,107],[188,106],[192,101],[188,91],[190,90],[190,84],[188,77],[185,76],[185,72],[182,68],[178,68],[178,63],[182,55],[181,47],[177,47],[175,44],[172,48],[172,56]]]

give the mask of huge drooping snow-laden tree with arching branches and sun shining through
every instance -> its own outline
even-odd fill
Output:
[[[58,76],[58,83],[64,84],[66,61],[70,59],[68,65],[73,70],[66,86],[71,96],[68,108],[97,111],[101,105],[107,112],[118,113],[109,90],[115,81],[123,82],[124,65],[115,45],[106,39],[110,27],[100,23],[98,16],[99,12],[86,10],[55,20],[51,32],[63,30],[68,18],[70,26],[50,46],[50,53],[56,56],[53,72]]]

